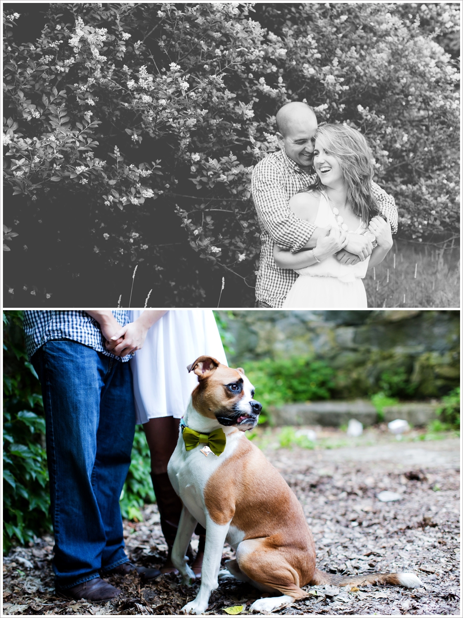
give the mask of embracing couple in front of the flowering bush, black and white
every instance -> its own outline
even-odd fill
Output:
[[[397,231],[396,204],[373,182],[367,140],[346,125],[318,127],[299,101],[279,109],[276,124],[281,150],[252,175],[262,245],[257,306],[366,308],[362,279]]]

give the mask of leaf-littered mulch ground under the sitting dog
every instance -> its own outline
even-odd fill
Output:
[[[445,448],[445,444],[441,444]],[[356,448],[359,448],[358,446]],[[454,449],[454,441],[452,441]],[[407,462],[334,462],[327,451],[266,449],[299,498],[315,538],[317,566],[338,574],[414,572],[423,586],[307,586],[310,596],[278,615],[308,614],[383,616],[418,614],[461,616],[459,465],[407,466]],[[380,491],[401,499],[380,502]],[[155,505],[143,522],[125,522],[130,559],[158,567],[166,556]],[[196,541],[197,544],[197,541]],[[193,540],[193,548],[195,541]],[[53,538],[45,536],[27,548],[15,548],[3,567],[3,613],[19,615],[176,615],[197,594],[175,575],[144,583],[138,576],[108,577],[122,593],[106,603],[69,601],[56,595],[51,559]],[[233,555],[226,546],[223,561]],[[212,593],[206,614],[226,615],[224,608],[244,606],[260,595],[252,586],[223,580]]]

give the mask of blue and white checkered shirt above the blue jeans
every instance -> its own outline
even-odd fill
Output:
[[[115,309],[114,318],[125,326],[129,321],[129,311]],[[23,327],[26,337],[29,360],[47,341],[70,339],[88,345],[96,352],[117,358],[122,363],[130,360],[131,355],[119,357],[104,348],[104,337],[100,325],[88,315],[87,311],[24,311]]]

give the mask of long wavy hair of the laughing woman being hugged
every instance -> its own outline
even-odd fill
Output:
[[[338,160],[342,178],[347,185],[347,199],[354,214],[368,225],[370,219],[380,211],[372,192],[373,154],[362,133],[342,124],[325,124],[318,127],[315,139],[321,137],[325,151]],[[317,176],[309,190],[323,188]]]

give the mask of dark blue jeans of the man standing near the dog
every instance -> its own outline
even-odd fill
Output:
[[[135,408],[130,363],[75,341],[33,355],[46,419],[56,588],[127,562],[119,496],[130,465]]]

